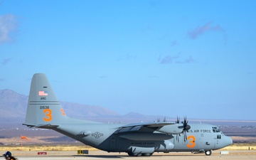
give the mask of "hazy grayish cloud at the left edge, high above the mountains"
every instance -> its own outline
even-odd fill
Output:
[[[0,16],[0,45],[12,41],[12,33],[17,29],[16,17],[13,14]]]

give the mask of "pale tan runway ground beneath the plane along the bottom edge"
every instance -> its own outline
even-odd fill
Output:
[[[220,155],[213,151],[211,156],[191,154],[189,152],[154,153],[152,156],[128,156],[126,153],[107,153],[106,151],[89,151],[89,154],[77,154],[77,151],[47,151],[47,155],[38,155],[38,151],[11,151],[18,160],[49,159],[49,160],[78,160],[78,159],[256,159],[256,151],[229,151]]]

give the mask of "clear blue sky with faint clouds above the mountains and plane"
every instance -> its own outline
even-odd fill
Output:
[[[251,119],[255,1],[0,1],[0,89],[46,73],[59,100]]]

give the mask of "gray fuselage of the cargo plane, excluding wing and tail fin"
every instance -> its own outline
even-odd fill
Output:
[[[190,124],[183,134],[166,134],[142,128],[139,132],[117,132],[124,124],[62,124],[54,130],[109,152],[129,152],[132,147],[153,151],[208,151],[232,144],[232,139],[210,124]]]

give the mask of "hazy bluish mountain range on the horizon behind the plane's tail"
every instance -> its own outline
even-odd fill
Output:
[[[26,116],[28,96],[21,95],[13,90],[0,90],[0,123],[23,123]],[[95,105],[82,105],[73,102],[63,102],[65,113],[68,117],[79,119],[90,119],[98,122],[138,122],[138,120],[150,120],[162,117],[146,116],[130,112],[121,115],[105,107]]]

